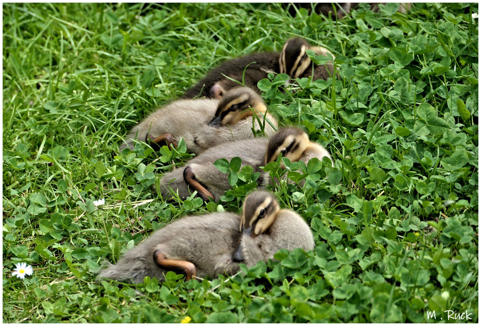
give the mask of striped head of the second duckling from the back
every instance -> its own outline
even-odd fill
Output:
[[[215,116],[209,125],[234,125],[247,116],[253,115],[251,108],[256,114],[265,114],[267,111],[266,103],[253,89],[232,88],[220,100]]]

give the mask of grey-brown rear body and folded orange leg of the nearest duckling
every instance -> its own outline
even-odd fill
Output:
[[[209,213],[182,217],[153,232],[127,251],[119,261],[101,269],[97,280],[110,278],[141,283],[145,276],[165,279],[170,270],[192,276],[212,276],[239,269],[232,253],[239,242],[236,213]]]

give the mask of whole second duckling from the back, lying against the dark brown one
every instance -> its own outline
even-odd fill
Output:
[[[253,122],[254,113],[259,119]],[[226,141],[253,138],[253,127],[262,127],[265,135],[271,136],[277,126],[277,119],[267,113],[266,104],[255,91],[236,87],[226,92],[222,100],[177,100],[167,104],[132,128],[127,138],[137,135],[153,141],[152,145],[166,142],[167,146],[177,146],[183,137],[187,150],[198,154]],[[127,146],[132,150],[133,140],[128,139],[121,150]]]

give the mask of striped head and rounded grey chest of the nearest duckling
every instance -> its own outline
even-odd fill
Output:
[[[233,261],[251,267],[273,258],[279,249],[314,249],[311,228],[297,213],[280,209],[273,193],[257,190],[244,200],[240,223],[242,237]]]

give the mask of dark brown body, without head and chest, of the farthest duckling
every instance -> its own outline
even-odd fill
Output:
[[[219,99],[225,91],[240,85],[242,75],[244,75],[245,86],[260,93],[257,82],[267,78],[269,72],[277,73],[279,71],[278,58],[279,52],[259,52],[221,63],[187,90],[182,99],[191,99],[195,96]],[[239,81],[239,83],[222,74]]]

